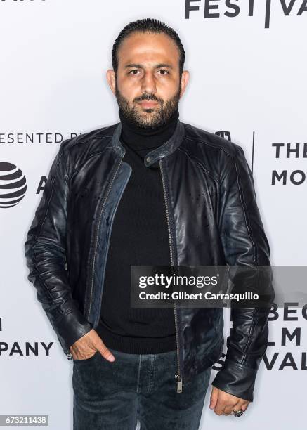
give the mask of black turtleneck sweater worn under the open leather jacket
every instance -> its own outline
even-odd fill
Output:
[[[159,161],[144,158],[172,136],[178,110],[168,124],[141,129],[119,110],[123,161],[131,176],[112,224],[105,267],[100,321],[96,331],[109,348],[124,353],[163,353],[176,349],[174,308],[131,308],[130,266],[171,264],[169,233]]]

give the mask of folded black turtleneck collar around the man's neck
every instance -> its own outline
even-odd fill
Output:
[[[142,129],[131,123],[124,117],[119,109],[119,119],[122,122],[122,134],[120,136],[124,144],[133,150],[144,153],[148,150],[158,148],[171,138],[178,123],[179,112],[176,110],[167,124],[157,126],[154,129]]]

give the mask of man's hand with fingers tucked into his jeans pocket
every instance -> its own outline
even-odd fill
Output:
[[[103,358],[108,361],[115,360],[115,356],[107,349],[94,329],[84,334],[84,336],[80,337],[80,339],[70,346],[70,352],[74,360],[86,360],[87,358],[91,358],[96,351],[99,351]]]

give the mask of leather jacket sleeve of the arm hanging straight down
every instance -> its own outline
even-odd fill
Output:
[[[270,247],[256,204],[252,172],[242,148],[233,145],[235,156],[229,157],[224,164],[220,180],[218,223],[221,241],[226,263],[247,268],[244,287],[253,291],[259,287],[269,305],[256,308],[231,307],[233,329],[227,338],[226,359],[212,385],[244,400],[253,401],[256,373],[268,346],[268,313],[274,291]],[[257,270],[257,266],[266,266],[268,271]],[[242,271],[240,277],[239,280],[236,275],[233,278],[230,275],[234,285],[236,282],[242,283]]]

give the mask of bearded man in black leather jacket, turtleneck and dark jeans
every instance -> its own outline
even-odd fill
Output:
[[[270,265],[242,148],[178,119],[184,61],[164,23],[122,30],[107,70],[120,122],[60,145],[27,235],[28,279],[73,359],[75,430],[199,428],[223,308],[132,308],[130,266]],[[231,312],[210,408],[240,416],[269,308]]]

